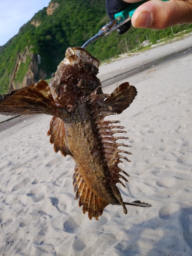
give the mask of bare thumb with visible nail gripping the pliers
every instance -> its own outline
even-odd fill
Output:
[[[152,0],[139,6],[132,17],[135,28],[165,29],[192,22],[192,0]]]

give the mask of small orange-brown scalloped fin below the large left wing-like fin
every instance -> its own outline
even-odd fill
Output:
[[[67,146],[65,125],[59,117],[51,119],[47,135],[51,135],[50,143],[54,144],[54,151],[56,153],[60,151],[63,156],[71,155]]]

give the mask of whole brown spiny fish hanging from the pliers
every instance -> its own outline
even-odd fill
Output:
[[[68,48],[54,78],[49,84],[44,80],[10,92],[0,99],[0,114],[53,116],[48,136],[54,151],[71,156],[75,161],[73,186],[79,207],[91,220],[98,220],[109,205],[151,207],[139,200],[124,202],[117,187],[120,180],[129,177],[118,164],[131,162],[124,155],[132,153],[119,143],[126,133],[120,121],[104,120],[106,116],[121,114],[133,102],[137,90],[123,82],[111,94],[102,91],[97,78],[99,60],[81,47]],[[122,154],[123,153],[123,154]]]

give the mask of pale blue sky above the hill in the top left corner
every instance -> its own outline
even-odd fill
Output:
[[[33,15],[51,0],[0,0],[0,46],[16,35]]]

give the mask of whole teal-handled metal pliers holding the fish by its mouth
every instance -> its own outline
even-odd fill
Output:
[[[99,32],[94,35],[93,37],[91,37],[87,42],[85,42],[81,48],[86,48],[88,47],[90,44],[92,44],[92,42],[96,41],[97,39],[99,39],[100,37],[104,36],[104,35],[108,35],[110,34],[111,32],[115,31],[115,30],[118,30],[118,28],[120,26],[122,26],[123,24],[129,22],[129,20],[132,18],[134,12],[136,11],[136,9],[144,4],[145,2],[147,2],[148,0],[144,0],[144,1],[141,1],[141,2],[137,2],[137,3],[134,3],[134,4],[131,4],[129,5],[125,10],[119,12],[119,13],[116,13],[115,14],[115,19],[104,25],[100,30]],[[168,0],[162,0],[164,2],[168,1]]]

